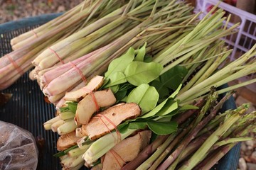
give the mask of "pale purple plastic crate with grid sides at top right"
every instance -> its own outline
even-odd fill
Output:
[[[208,13],[207,9],[209,6],[214,6],[216,4],[218,4],[218,0],[197,0],[195,12],[202,11],[203,14],[200,17],[203,18],[203,16]],[[223,8],[230,13],[233,18],[235,17],[240,22],[240,26],[237,28],[238,33],[223,38],[228,46],[233,49],[233,52],[230,55],[230,60],[235,60],[236,57],[239,57],[247,52],[247,50],[250,50],[256,43],[256,15],[248,13],[247,11],[242,11],[240,8],[236,8],[235,6],[223,2],[220,2],[219,7]],[[228,23],[228,27],[233,26],[233,22],[234,21],[231,20]],[[254,60],[256,59],[254,58]],[[243,77],[240,81],[252,78],[256,78],[256,74],[250,74],[250,76]],[[247,88],[256,93],[256,84],[250,84]]]

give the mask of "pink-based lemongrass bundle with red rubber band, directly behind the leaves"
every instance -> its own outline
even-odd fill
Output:
[[[154,7],[152,2],[153,1],[151,1],[151,4],[148,4],[151,8]],[[142,7],[145,5],[146,4],[142,4],[137,8],[143,9]],[[158,4],[158,6],[159,5],[161,4]],[[166,5],[166,3],[164,5]],[[125,52],[131,45],[139,47],[142,46],[144,42],[148,42],[151,50],[158,49],[158,47],[161,47],[164,43],[166,44],[169,40],[174,39],[183,32],[193,28],[193,25],[188,25],[185,26],[184,29],[180,30],[180,28],[183,28],[182,26],[188,23],[188,21],[190,21],[194,16],[188,13],[188,11],[191,11],[191,7],[182,4],[179,5],[180,8],[176,8],[177,6],[178,5],[174,4],[174,1],[172,1],[168,6],[169,13],[164,13],[164,11],[164,14],[156,13],[161,16],[161,20],[158,20],[158,17],[156,17],[155,21],[151,20],[151,18],[147,18],[138,26],[132,28],[128,33],[120,36],[109,45],[105,45],[94,52],[90,52],[77,60],[73,60],[72,63],[80,69],[83,76],[92,77],[95,74],[102,74],[105,72],[108,63],[110,63],[115,57],[119,57],[119,55]],[[139,15],[137,8],[129,11],[128,14],[136,13]],[[180,11],[178,11],[178,9],[180,9]],[[186,11],[186,13],[184,13],[184,11]],[[172,14],[172,17],[166,17],[168,14],[170,16],[170,13]],[[157,16],[156,14],[154,15]],[[179,20],[177,20],[177,18],[179,18]],[[161,21],[161,23],[159,23],[159,21]],[[176,24],[177,26],[169,28],[171,24]],[[168,38],[166,38],[166,40],[160,40],[159,35],[165,35]],[[41,72],[38,73],[41,74]],[[72,79],[70,79],[70,76]],[[63,86],[57,85],[60,84],[60,81],[65,81],[65,79],[70,79],[72,81],[68,81],[68,83],[63,84]],[[82,79],[81,75],[73,65],[66,63],[58,67],[54,67],[48,72],[43,72],[41,76],[38,76],[38,82],[41,85],[41,89],[43,89],[44,94],[53,99],[53,96],[60,94],[63,95],[66,91],[70,91],[75,88],[75,86],[82,82]],[[55,89],[55,86],[58,86],[58,88]],[[52,101],[56,102],[56,100]]]

